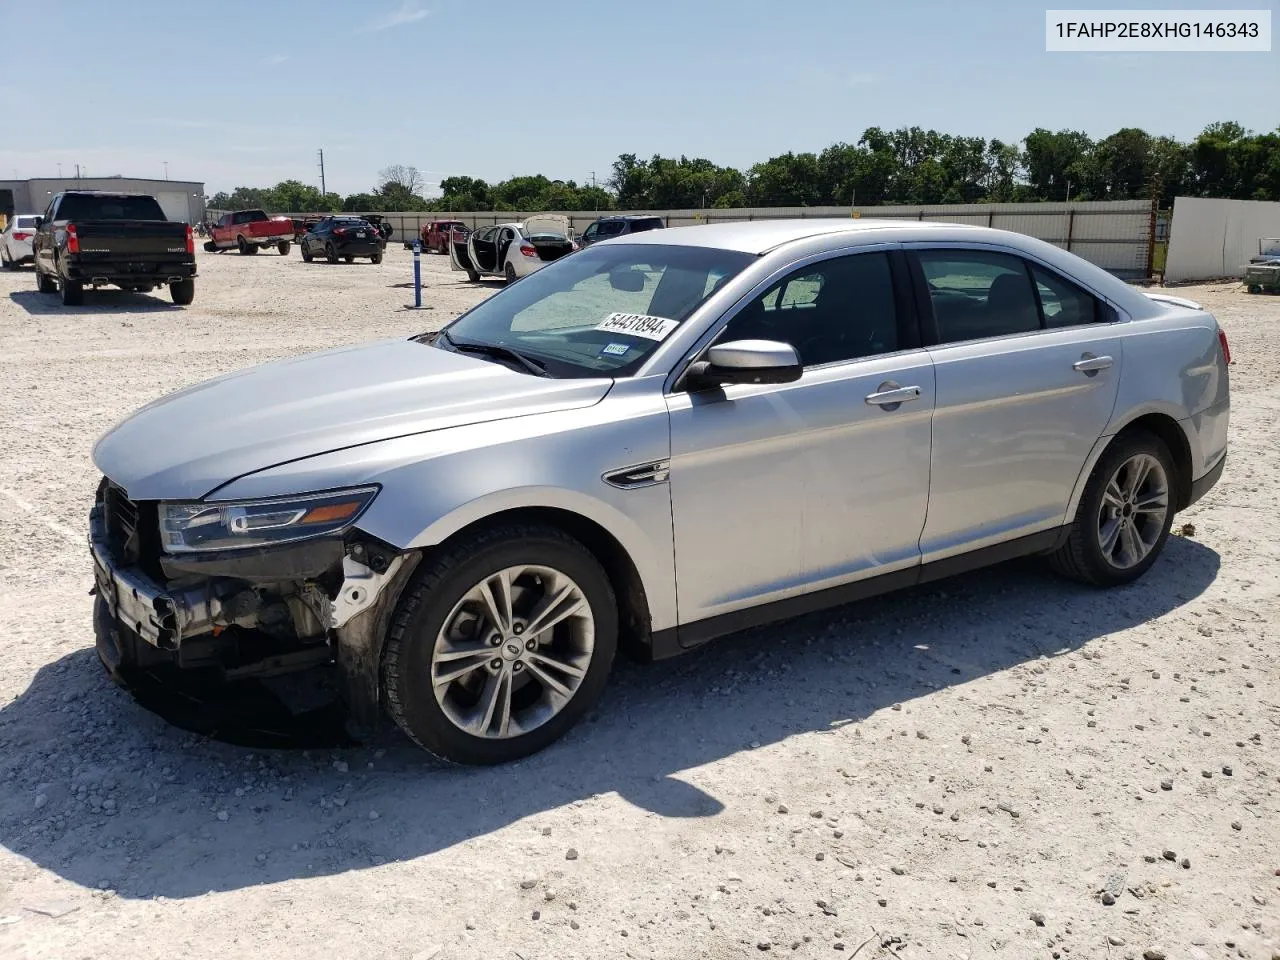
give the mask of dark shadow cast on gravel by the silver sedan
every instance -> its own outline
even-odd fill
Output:
[[[0,708],[0,844],[86,887],[191,897],[430,855],[600,794],[714,817],[724,805],[682,771],[1097,644],[1194,599],[1219,563],[1172,538],[1140,582],[1098,591],[1015,562],[685,658],[620,662],[584,723],[498,768],[439,764],[396,732],[319,750],[193,736],[114,687],[83,649]]]

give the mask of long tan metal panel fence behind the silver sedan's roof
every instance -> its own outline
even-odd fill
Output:
[[[392,242],[411,241],[422,224],[431,220],[462,220],[472,229],[495,223],[524,220],[532,212],[548,211],[433,211],[379,214],[394,229]],[[602,215],[654,214],[668,227],[731,220],[774,220],[785,218],[890,218],[904,220],[942,220],[1012,230],[1053,243],[1125,279],[1151,275],[1156,216],[1146,200],[1084,201],[1074,204],[942,204],[936,206],[774,206],[732,210],[564,210],[571,229],[581,233]],[[316,216],[316,214],[293,214]]]

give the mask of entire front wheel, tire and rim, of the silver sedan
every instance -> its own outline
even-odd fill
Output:
[[[392,718],[453,763],[541,750],[600,698],[618,608],[599,561],[549,526],[488,530],[406,588],[383,653]]]

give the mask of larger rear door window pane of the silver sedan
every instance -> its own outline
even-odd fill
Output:
[[[916,251],[940,343],[980,340],[1041,328],[1027,264],[980,250]]]

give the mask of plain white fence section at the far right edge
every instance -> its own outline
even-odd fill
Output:
[[[1165,280],[1239,276],[1258,241],[1280,237],[1280,204],[1175,197]]]

